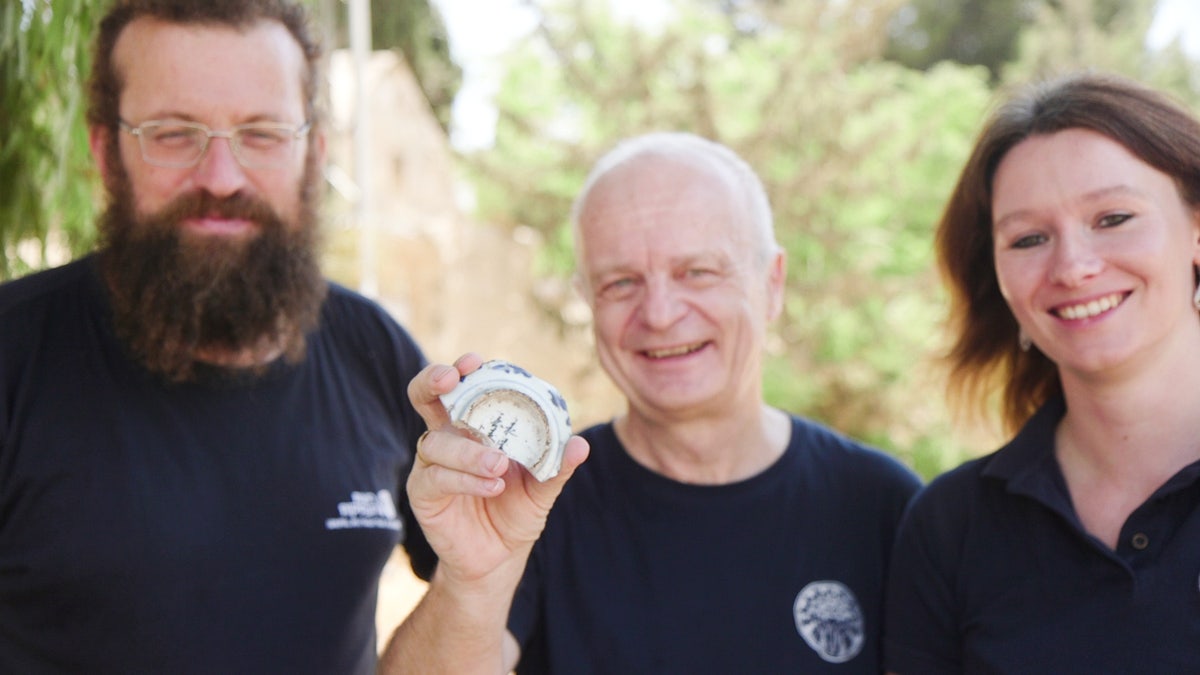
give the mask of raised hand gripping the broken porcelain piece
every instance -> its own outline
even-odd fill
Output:
[[[408,500],[438,554],[438,574],[466,583],[505,568],[510,578],[520,574],[550,508],[588,454],[587,441],[571,436],[558,476],[539,483],[500,450],[452,426],[438,396],[480,364],[468,353],[454,366],[427,366],[408,386],[430,429],[418,443]]]

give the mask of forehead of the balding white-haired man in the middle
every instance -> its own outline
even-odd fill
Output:
[[[722,255],[750,249],[746,198],[731,172],[677,157],[637,157],[596,181],[580,213],[583,257]]]

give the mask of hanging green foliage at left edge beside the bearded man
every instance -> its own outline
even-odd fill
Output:
[[[89,0],[0,6],[0,279],[91,243],[83,82],[95,23]]]

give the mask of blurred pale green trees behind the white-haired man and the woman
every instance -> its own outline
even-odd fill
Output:
[[[571,199],[616,141],[670,129],[732,147],[763,178],[788,251],[768,400],[925,476],[998,440],[950,432],[931,247],[996,88],[1097,66],[1178,89],[1192,72],[1178,50],[1142,46],[1152,0],[679,1],[649,26],[605,2],[529,5],[540,20],[508,56],[494,145],[464,157],[481,219],[540,232],[544,273],[563,280]],[[901,28],[929,36],[920,60],[895,53],[906,12],[923,23]],[[986,53],[952,49],[984,38]],[[566,317],[564,288],[541,300]]]

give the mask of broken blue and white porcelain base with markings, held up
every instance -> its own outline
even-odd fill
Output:
[[[571,437],[566,401],[550,383],[509,362],[490,360],[442,395],[450,420],[529,470],[558,476]]]

